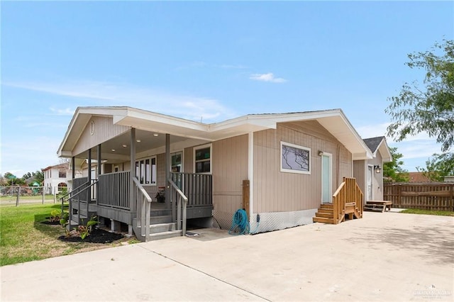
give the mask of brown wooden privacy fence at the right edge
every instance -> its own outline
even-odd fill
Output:
[[[394,208],[454,211],[454,183],[384,184],[383,199]]]

